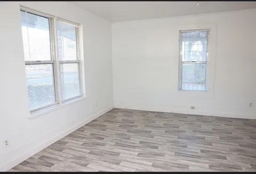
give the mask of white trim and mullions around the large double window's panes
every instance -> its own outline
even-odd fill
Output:
[[[56,89],[57,89],[57,94],[58,95],[58,102],[55,104],[51,104],[50,106],[46,106],[43,107],[42,109],[38,109],[35,111],[30,111],[30,114],[28,116],[28,119],[34,119],[37,117],[40,117],[42,115],[48,114],[50,112],[53,112],[55,110],[59,110],[63,107],[66,107],[68,105],[77,103],[77,102],[81,102],[84,100],[84,98],[86,98],[85,95],[85,81],[84,81],[84,61],[83,61],[83,39],[81,39],[81,37],[83,37],[82,35],[82,25],[75,23],[75,22],[71,22],[62,18],[59,18],[57,16],[53,16],[47,13],[43,13],[43,12],[39,12],[37,10],[33,10],[30,9],[28,7],[22,6],[20,5],[20,10],[22,11],[26,11],[32,14],[36,14],[36,15],[41,15],[44,16],[46,18],[50,19],[50,22],[52,22],[52,24],[50,24],[50,32],[52,32],[52,36],[51,36],[51,51],[53,52],[52,54],[52,60],[51,61],[46,61],[46,62],[53,62],[54,64],[54,68],[55,68],[55,76],[54,78],[57,79],[57,84],[55,85]],[[78,73],[80,76],[79,82],[80,82],[80,86],[81,86],[81,95],[76,96],[74,98],[70,98],[68,100],[62,101],[62,95],[61,95],[61,81],[60,81],[60,62],[57,55],[58,55],[58,48],[57,48],[57,20],[67,23],[69,25],[75,26],[77,27],[77,32],[79,33],[79,37],[77,37],[77,60],[75,61],[71,61],[71,62],[76,62],[78,63]],[[53,26],[53,27],[51,27]],[[23,45],[22,45],[23,46]],[[32,61],[25,61],[25,64],[27,63],[31,63]],[[44,62],[44,61],[42,61]],[[63,61],[64,62],[64,61]],[[65,61],[68,62],[68,61]],[[33,63],[33,62],[32,62]],[[54,74],[53,74],[54,75]],[[26,88],[27,89],[27,88]]]

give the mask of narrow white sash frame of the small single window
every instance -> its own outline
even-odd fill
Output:
[[[181,35],[182,32],[193,32],[193,31],[207,31],[207,45],[206,45],[206,61],[182,61],[182,40],[181,40]],[[207,87],[208,87],[208,55],[209,55],[209,35],[210,35],[211,29],[195,29],[195,30],[180,30],[179,32],[179,90],[185,90],[185,91],[202,91],[202,92],[207,92]],[[205,64],[205,86],[204,90],[201,89],[182,89],[182,64],[183,63],[189,63],[189,64],[197,64],[197,63],[204,63]]]

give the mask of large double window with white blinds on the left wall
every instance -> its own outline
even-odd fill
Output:
[[[79,25],[21,7],[30,112],[83,95]]]

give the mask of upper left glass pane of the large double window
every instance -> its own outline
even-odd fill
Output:
[[[21,11],[25,61],[51,60],[49,19]]]

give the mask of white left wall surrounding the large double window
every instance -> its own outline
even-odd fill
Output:
[[[32,120],[20,4],[83,25],[86,98]],[[0,171],[5,171],[110,110],[114,102],[109,21],[68,2],[0,2],[0,21]],[[9,140],[9,147],[3,140]]]

